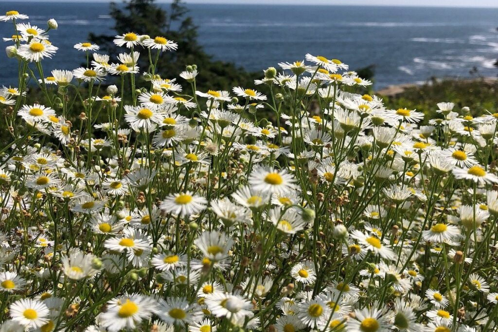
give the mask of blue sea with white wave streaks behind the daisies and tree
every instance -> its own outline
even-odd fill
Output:
[[[165,8],[168,4],[160,4]],[[375,88],[420,83],[430,77],[496,76],[498,8],[189,4],[199,41],[214,58],[250,71],[302,60],[306,53],[337,58],[351,69],[375,65]],[[109,4],[0,2],[45,27],[55,18],[50,40],[60,49],[48,69],[74,69],[83,62],[73,49],[89,32],[114,34]],[[132,29],[132,27],[130,27]],[[0,35],[12,24],[0,22]],[[167,36],[166,36],[167,37]],[[3,43],[7,46],[9,43]],[[16,62],[0,52],[0,85],[16,84]],[[201,69],[202,70],[202,69]]]

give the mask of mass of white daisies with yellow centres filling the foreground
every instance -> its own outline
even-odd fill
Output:
[[[133,32],[46,77],[57,22],[26,18],[0,16],[1,332],[498,329],[498,113],[388,110],[310,54],[198,91]]]

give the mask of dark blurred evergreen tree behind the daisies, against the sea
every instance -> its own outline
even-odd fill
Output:
[[[215,61],[199,44],[197,26],[192,17],[187,16],[188,8],[181,0],[174,0],[166,11],[154,3],[154,0],[125,0],[124,5],[111,2],[111,17],[115,20],[116,34],[133,32],[146,34],[154,38],[163,36],[178,43],[178,49],[173,52],[163,52],[159,57],[159,74],[163,78],[176,77],[186,65],[196,64],[199,68],[197,87],[200,90],[224,89],[233,86],[250,87],[253,79],[259,73],[248,73],[242,67],[233,63]],[[114,35],[90,34],[90,40],[101,46],[109,54],[117,54],[119,50],[113,43]],[[121,50],[122,52],[124,49]],[[146,70],[148,54],[146,49],[136,48],[141,53],[139,66]],[[155,56],[155,54],[152,54]],[[185,83],[185,82],[179,82]]]

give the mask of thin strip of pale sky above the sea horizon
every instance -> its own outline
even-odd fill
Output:
[[[0,3],[5,0],[0,0]],[[7,0],[9,1],[9,0]],[[34,0],[14,0],[34,2]],[[74,0],[42,0],[49,2],[71,2]],[[87,0],[109,2],[111,0]],[[116,0],[120,2],[120,0]],[[240,4],[329,4],[329,5],[388,5],[388,6],[442,6],[442,7],[495,7],[498,0],[184,0],[186,3],[240,3]],[[171,2],[171,0],[157,0]]]

